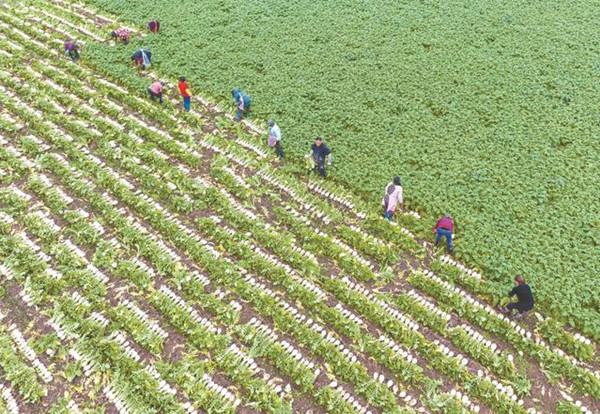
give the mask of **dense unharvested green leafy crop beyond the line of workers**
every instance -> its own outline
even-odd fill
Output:
[[[289,158],[316,134],[332,177],[374,208],[394,174],[433,224],[451,212],[459,257],[504,294],[515,273],[538,303],[600,332],[600,35],[597,2],[128,1],[90,3],[159,36],[94,45],[124,70],[153,66],[282,127]]]

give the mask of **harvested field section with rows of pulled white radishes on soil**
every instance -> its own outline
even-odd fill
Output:
[[[0,5],[0,412],[600,412],[594,338],[498,313],[418,212],[274,165],[218,99],[151,103],[118,19]]]

